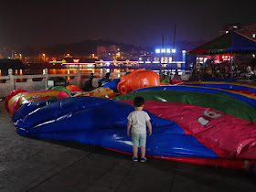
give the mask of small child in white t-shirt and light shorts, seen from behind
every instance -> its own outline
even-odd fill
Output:
[[[149,129],[149,135],[152,134],[152,126],[150,117],[147,112],[144,112],[144,98],[135,97],[133,100],[135,111],[128,115],[127,134],[131,135],[133,140],[133,161],[138,161],[138,147],[141,147],[141,162],[145,162],[145,142],[146,142],[146,125]]]

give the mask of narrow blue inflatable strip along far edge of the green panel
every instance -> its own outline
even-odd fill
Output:
[[[154,91],[154,90],[170,90],[170,91],[198,91],[198,92],[212,92],[212,93],[223,93],[223,94],[228,94],[232,97],[235,97],[239,99],[240,101],[244,101],[246,103],[251,104],[251,106],[256,107],[256,100],[252,99],[250,97],[246,97],[243,95],[240,95],[239,93],[233,93],[229,91],[222,91],[222,90],[215,90],[215,89],[210,89],[210,88],[201,88],[201,87],[193,87],[189,85],[174,85],[174,86],[155,86],[155,87],[145,87],[141,88],[138,90],[135,90],[133,92],[138,92],[138,91]]]

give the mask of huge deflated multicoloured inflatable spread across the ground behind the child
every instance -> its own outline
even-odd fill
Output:
[[[124,91],[125,94],[112,100],[95,97],[93,94],[99,93],[95,90],[92,96],[25,102],[12,116],[16,133],[38,139],[95,144],[132,154],[132,139],[126,134],[127,116],[134,110],[133,98],[142,96],[144,110],[153,125],[153,133],[147,137],[147,156],[256,169],[255,86],[232,82],[159,86],[154,74],[156,85],[145,87],[138,83],[136,89],[128,77],[139,80],[132,73],[128,75],[117,88],[121,91],[127,85],[125,89],[130,93]]]

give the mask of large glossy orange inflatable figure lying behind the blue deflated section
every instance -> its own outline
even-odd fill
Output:
[[[121,78],[121,81],[117,85],[117,90],[122,94],[126,94],[139,88],[159,85],[160,80],[156,72],[146,69],[136,69]]]

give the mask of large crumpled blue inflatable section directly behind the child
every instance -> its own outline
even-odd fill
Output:
[[[127,135],[127,116],[133,105],[95,97],[74,97],[23,105],[13,121],[16,133],[41,139],[75,141],[133,153]],[[219,158],[213,150],[186,134],[177,123],[148,112],[153,134],[147,137],[146,154]]]

